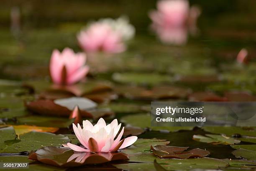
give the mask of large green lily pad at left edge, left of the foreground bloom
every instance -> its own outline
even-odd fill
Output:
[[[12,126],[0,129],[1,144],[0,153],[18,153],[21,151],[37,150],[44,146],[61,146],[69,142],[64,135],[56,135],[46,132],[31,131],[16,137]]]

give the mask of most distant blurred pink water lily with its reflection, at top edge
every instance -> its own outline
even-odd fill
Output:
[[[197,18],[200,9],[196,6],[189,7],[187,0],[160,0],[157,10],[151,11],[152,29],[156,32],[161,42],[166,44],[184,45],[187,34],[197,32]]]

